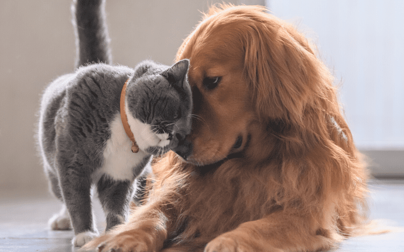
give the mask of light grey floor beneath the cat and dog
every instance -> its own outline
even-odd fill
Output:
[[[404,181],[375,180],[370,188],[370,217],[404,227]],[[61,208],[55,198],[1,192],[0,197],[0,252],[74,251],[73,231],[51,231],[47,227],[47,220]],[[103,230],[105,217],[99,203],[94,208],[98,228]],[[349,238],[333,251],[404,251],[404,232]]]

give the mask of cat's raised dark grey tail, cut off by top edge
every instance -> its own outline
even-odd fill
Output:
[[[111,64],[105,0],[73,0],[72,14],[76,34],[76,68],[93,62]]]

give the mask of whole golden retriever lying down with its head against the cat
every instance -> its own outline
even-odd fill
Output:
[[[317,251],[365,219],[364,164],[333,76],[293,26],[214,6],[184,40],[192,133],[98,251]]]

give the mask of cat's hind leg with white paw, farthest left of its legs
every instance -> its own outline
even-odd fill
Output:
[[[69,212],[67,211],[66,205],[63,201],[62,191],[59,186],[59,179],[57,175],[50,171],[50,169],[47,169],[46,171],[49,178],[49,187],[51,188],[51,191],[63,203],[61,211],[49,219],[48,225],[52,230],[70,230],[72,229],[72,223],[70,221]]]

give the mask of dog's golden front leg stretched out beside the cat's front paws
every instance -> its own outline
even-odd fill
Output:
[[[99,252],[107,251],[160,251],[167,238],[168,218],[161,204],[139,207],[125,224],[118,225],[83,248]]]

